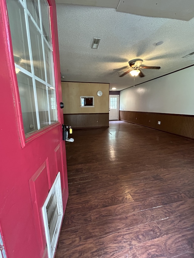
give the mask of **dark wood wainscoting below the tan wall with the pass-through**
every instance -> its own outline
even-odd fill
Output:
[[[63,118],[74,129],[109,127],[109,113],[63,114]]]

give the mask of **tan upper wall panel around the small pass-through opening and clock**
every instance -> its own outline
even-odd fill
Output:
[[[109,83],[61,82],[61,86],[64,114],[109,113]],[[80,96],[94,96],[94,107],[80,107]]]

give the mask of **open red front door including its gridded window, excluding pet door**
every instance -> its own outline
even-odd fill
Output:
[[[0,0],[0,23],[0,233],[8,258],[48,257],[42,206],[59,171],[63,211],[68,198],[55,0]]]

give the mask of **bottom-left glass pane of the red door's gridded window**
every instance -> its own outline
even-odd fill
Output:
[[[17,73],[19,95],[22,107],[24,132],[28,134],[38,130],[32,78],[25,73]]]

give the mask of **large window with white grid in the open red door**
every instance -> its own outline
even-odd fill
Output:
[[[58,121],[50,8],[46,0],[7,0],[25,136]]]

